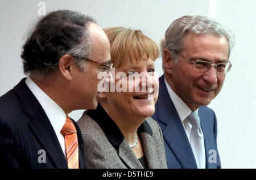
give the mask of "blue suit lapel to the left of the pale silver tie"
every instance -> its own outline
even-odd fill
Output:
[[[172,103],[164,77],[159,78],[158,119],[166,124],[163,130],[163,138],[183,168],[197,168],[191,145],[189,144],[183,124]]]

